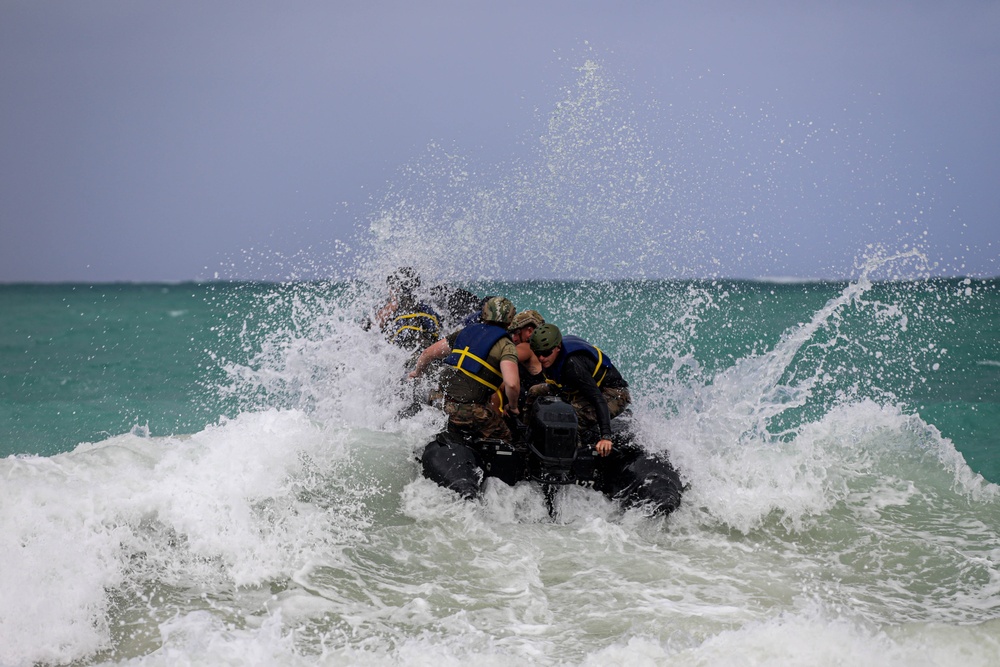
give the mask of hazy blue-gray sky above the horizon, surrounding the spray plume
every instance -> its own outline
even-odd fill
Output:
[[[3,0],[0,282],[322,272],[428,145],[535,150],[590,57],[677,183],[742,175],[703,192],[732,210],[670,200],[712,218],[716,275],[916,242],[998,275],[997,35],[993,1]]]

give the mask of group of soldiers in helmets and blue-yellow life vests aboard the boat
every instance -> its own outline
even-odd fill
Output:
[[[389,299],[375,322],[388,340],[414,351],[410,379],[440,366],[434,393],[449,428],[510,440],[510,420],[554,393],[573,406],[582,429],[596,430],[597,453],[611,452],[611,420],[631,399],[628,383],[600,348],[563,334],[536,310],[517,312],[506,297],[478,299],[439,287],[432,290],[435,308],[418,298],[413,269],[401,268],[386,282]]]

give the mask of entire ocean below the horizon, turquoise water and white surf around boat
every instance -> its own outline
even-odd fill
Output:
[[[0,286],[0,665],[995,665],[1000,282],[469,282],[598,344],[668,517],[398,419],[379,285]]]

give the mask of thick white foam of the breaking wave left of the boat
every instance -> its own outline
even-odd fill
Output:
[[[187,438],[123,435],[0,461],[0,664],[106,646],[109,591],[257,585],[358,539],[371,490],[338,478],[347,435],[272,410]],[[322,502],[331,492],[339,505]]]

